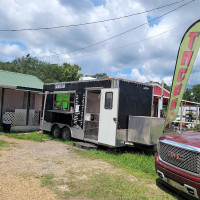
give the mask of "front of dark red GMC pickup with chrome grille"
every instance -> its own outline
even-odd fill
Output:
[[[164,183],[200,198],[200,132],[159,138],[156,172]]]

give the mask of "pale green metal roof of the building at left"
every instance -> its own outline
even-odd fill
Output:
[[[43,82],[36,76],[0,70],[0,86],[42,89]]]

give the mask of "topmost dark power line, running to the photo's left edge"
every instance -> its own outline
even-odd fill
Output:
[[[139,12],[139,13],[133,13],[133,14],[130,14],[130,15],[125,15],[125,16],[115,17],[115,18],[105,19],[105,20],[99,20],[99,21],[94,21],[94,22],[86,22],[86,23],[62,25],[62,26],[52,26],[52,27],[40,27],[40,28],[0,29],[0,32],[51,30],[51,29],[69,28],[69,27],[77,27],[77,26],[85,26],[85,25],[97,24],[97,23],[108,22],[108,21],[115,21],[115,20],[119,20],[119,19],[123,19],[123,18],[132,17],[132,16],[135,16],[135,15],[145,14],[147,12],[151,12],[151,11],[158,10],[158,9],[161,9],[161,8],[165,8],[165,7],[174,5],[174,4],[178,4],[178,3],[182,2],[182,1],[185,1],[185,0],[177,1],[177,2],[174,2],[174,3],[171,3],[171,4],[167,4],[167,5],[164,5],[164,6],[160,6],[160,7],[153,8],[153,9],[146,10],[146,11]]]

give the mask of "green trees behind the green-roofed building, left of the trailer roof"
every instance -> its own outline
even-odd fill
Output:
[[[81,67],[78,65],[50,64],[36,58],[17,58],[12,62],[0,62],[0,70],[34,75],[45,83],[76,81],[82,74],[79,74]]]

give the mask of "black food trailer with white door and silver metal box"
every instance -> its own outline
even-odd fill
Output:
[[[153,86],[122,79],[44,84],[43,130],[110,147],[155,145],[164,120],[151,117]]]

